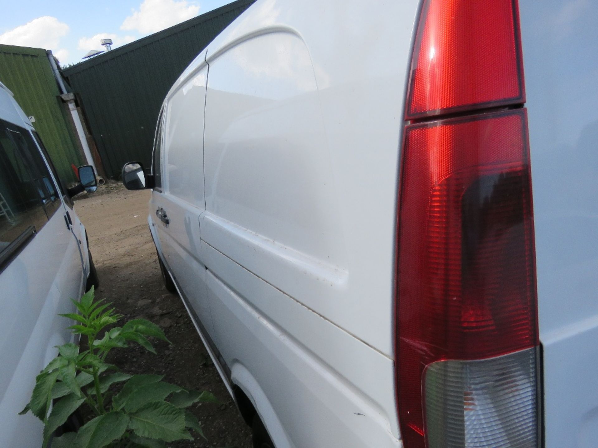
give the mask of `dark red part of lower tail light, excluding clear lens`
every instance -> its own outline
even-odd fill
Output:
[[[405,128],[397,357],[406,448],[424,446],[427,366],[538,345],[526,130],[524,109]]]

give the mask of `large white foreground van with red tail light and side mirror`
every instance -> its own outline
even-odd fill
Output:
[[[182,73],[123,179],[254,446],[596,447],[597,24],[258,0]]]

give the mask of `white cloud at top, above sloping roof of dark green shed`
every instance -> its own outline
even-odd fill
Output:
[[[199,13],[199,5],[187,0],[144,0],[139,10],[132,13],[124,19],[120,29],[149,34],[192,19]]]

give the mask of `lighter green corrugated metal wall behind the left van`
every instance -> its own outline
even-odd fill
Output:
[[[0,45],[0,81],[26,115],[35,117],[33,127],[59,176],[67,183],[77,180],[71,164],[83,165],[83,159],[45,50]]]

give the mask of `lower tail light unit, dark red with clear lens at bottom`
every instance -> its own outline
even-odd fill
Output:
[[[399,201],[405,448],[536,447],[525,109],[407,125]]]

